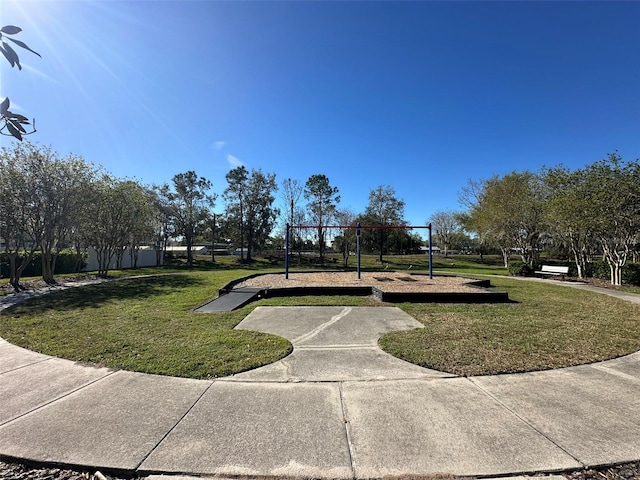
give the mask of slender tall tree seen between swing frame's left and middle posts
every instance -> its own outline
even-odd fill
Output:
[[[311,175],[305,183],[304,198],[309,202],[307,208],[311,221],[318,226],[320,261],[323,261],[326,234],[324,227],[334,217],[336,206],[340,202],[338,188],[329,184],[329,178],[326,175]]]

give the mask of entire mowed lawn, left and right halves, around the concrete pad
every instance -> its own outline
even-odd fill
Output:
[[[233,330],[257,305],[382,305],[369,297],[268,299],[235,312],[191,310],[230,269],[125,278],[45,295],[0,314],[0,336],[34,351],[190,378],[231,375],[291,352],[280,337]],[[508,304],[401,304],[424,329],[380,340],[387,352],[459,375],[558,368],[640,350],[640,306],[568,287],[492,278]]]

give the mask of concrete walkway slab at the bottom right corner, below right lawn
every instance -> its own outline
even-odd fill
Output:
[[[636,378],[582,366],[473,382],[587,466],[640,458]]]

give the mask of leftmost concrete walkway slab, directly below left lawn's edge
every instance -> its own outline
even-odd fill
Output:
[[[58,400],[100,378],[107,368],[51,358],[0,375],[0,424]]]

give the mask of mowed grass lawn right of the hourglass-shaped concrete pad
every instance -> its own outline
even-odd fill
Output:
[[[546,370],[640,350],[640,305],[544,282],[491,283],[512,303],[403,304],[425,328],[389,333],[381,347],[458,375]]]

